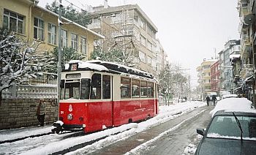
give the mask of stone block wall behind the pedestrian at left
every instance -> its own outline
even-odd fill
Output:
[[[45,99],[45,124],[53,124],[58,119],[56,99]],[[39,99],[2,99],[0,105],[0,129],[14,129],[37,126],[37,106]]]

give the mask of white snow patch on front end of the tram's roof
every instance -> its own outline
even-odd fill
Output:
[[[71,60],[69,61],[69,64],[75,64],[78,63],[78,68],[89,68],[89,69],[94,69],[94,70],[98,70],[98,71],[108,71],[108,69],[102,65],[99,64],[92,64],[92,63],[88,63],[86,61],[80,61],[80,60]],[[69,64],[65,64],[65,69],[69,69]]]

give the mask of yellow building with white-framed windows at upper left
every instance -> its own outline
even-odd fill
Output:
[[[1,0],[0,27],[14,31],[18,37],[29,42],[38,40],[38,52],[52,51],[58,46],[58,15],[37,6],[37,0]],[[94,40],[104,37],[77,23],[70,22],[61,27],[61,45],[72,47],[89,56],[94,50]]]

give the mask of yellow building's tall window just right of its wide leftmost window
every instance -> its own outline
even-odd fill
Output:
[[[44,40],[44,21],[34,18],[34,39]]]

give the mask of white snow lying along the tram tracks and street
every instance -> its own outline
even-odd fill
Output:
[[[123,126],[105,129],[104,131],[91,133],[89,135],[81,135],[78,133],[66,133],[62,135],[50,134],[39,137],[29,137],[12,143],[1,143],[0,154],[53,154],[59,151],[64,151],[65,149],[66,151],[61,152],[61,154],[67,152],[69,152],[68,154],[85,154],[85,152],[89,154],[110,144],[125,140],[140,132],[145,132],[154,126],[164,124],[173,118],[181,117],[184,113],[192,113],[192,111],[204,106],[206,106],[206,103],[203,102],[183,102],[176,105],[160,106],[159,115],[147,121],[143,121],[138,124],[125,124]],[[203,113],[203,111],[204,110],[200,110],[200,113]],[[200,113],[195,113],[192,117],[196,117]],[[181,124],[185,121],[189,121],[191,118],[181,121],[178,125],[167,129],[165,132],[162,132],[162,134],[148,140],[147,142],[143,141],[142,145],[138,145],[136,148],[128,151],[127,154],[136,154],[136,152],[141,150],[141,148],[145,148],[145,146],[150,145],[151,142],[159,140],[162,135],[172,132],[177,129],[178,126],[181,126]],[[0,139],[1,141],[5,141],[27,137],[29,135],[40,135],[50,132],[51,128],[51,126],[36,126],[23,129],[2,130],[0,131]],[[81,147],[80,144],[84,145],[84,147]],[[187,143],[187,145],[189,146],[192,144]],[[67,148],[69,148],[69,151],[67,151]]]

